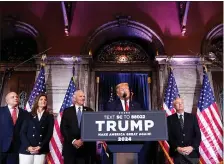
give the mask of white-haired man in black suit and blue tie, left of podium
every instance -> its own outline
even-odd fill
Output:
[[[61,119],[61,133],[64,137],[63,156],[65,164],[94,163],[96,158],[96,143],[83,142],[81,139],[81,115],[83,112],[93,112],[85,107],[85,95],[77,90],[73,95],[74,106],[64,110]]]

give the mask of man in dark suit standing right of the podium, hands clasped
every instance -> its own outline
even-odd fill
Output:
[[[201,142],[197,117],[184,112],[183,99],[177,98],[173,105],[176,113],[167,118],[170,156],[175,164],[197,164]]]

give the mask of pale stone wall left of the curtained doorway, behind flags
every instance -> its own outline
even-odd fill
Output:
[[[83,90],[86,95],[85,105],[93,108],[93,103],[90,103],[90,99],[93,98],[90,98],[89,96],[89,88],[91,85],[89,81],[91,76],[88,63],[88,59],[86,60],[84,58],[76,62],[74,64],[74,77],[76,88]],[[72,58],[49,57],[45,66],[45,71],[49,108],[53,109],[54,113],[58,113],[68,89],[71,77],[73,76]]]

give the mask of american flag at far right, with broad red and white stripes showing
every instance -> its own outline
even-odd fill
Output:
[[[217,164],[223,160],[223,125],[205,68],[203,68],[203,74],[197,108],[197,118],[202,136],[199,147],[200,160],[201,163]]]

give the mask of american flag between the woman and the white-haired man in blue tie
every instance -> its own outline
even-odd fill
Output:
[[[63,114],[64,109],[73,105],[72,103],[72,96],[76,90],[74,77],[71,78],[67,92],[64,97],[64,101],[62,103],[60,113],[57,116],[57,119],[54,122],[54,131],[53,136],[50,141],[50,153],[47,155],[47,162],[49,164],[63,164],[64,160],[62,157],[62,143],[63,137],[60,132],[60,124],[61,124],[61,117]]]

